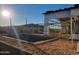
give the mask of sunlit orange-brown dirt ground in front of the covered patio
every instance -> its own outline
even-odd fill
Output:
[[[46,42],[37,45],[43,51],[50,55],[77,55],[77,41],[74,41],[73,46],[71,40],[59,39],[51,42]]]

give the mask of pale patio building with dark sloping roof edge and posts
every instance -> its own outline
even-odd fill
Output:
[[[76,4],[73,7],[47,11],[44,14],[44,35],[49,35],[49,21],[51,19],[57,19],[61,24],[61,33],[66,31],[69,34],[69,38],[79,39],[79,5]],[[68,30],[68,33],[67,33]]]

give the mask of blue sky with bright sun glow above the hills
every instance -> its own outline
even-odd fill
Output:
[[[13,25],[23,25],[27,23],[44,23],[42,13],[50,10],[71,7],[73,4],[0,4],[0,26],[8,26],[11,18]],[[10,12],[10,18],[4,17],[2,10]]]

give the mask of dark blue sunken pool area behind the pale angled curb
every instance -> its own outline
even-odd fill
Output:
[[[6,35],[6,36],[16,38],[15,35]],[[49,39],[54,38],[54,37],[44,36],[42,34],[41,35],[37,35],[37,34],[19,34],[19,38],[21,40],[28,41],[28,42],[39,42],[39,41],[49,40]]]

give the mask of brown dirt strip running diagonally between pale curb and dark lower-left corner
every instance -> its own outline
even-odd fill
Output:
[[[29,53],[29,54],[33,54],[33,55],[47,55],[48,54],[42,51],[40,48],[36,47],[36,45],[24,40],[20,40],[19,43],[21,45],[19,45],[18,40],[16,40],[15,38],[0,36],[0,42],[6,45],[9,45],[11,47],[14,47],[16,49],[20,49],[21,51],[25,51],[26,53]]]

